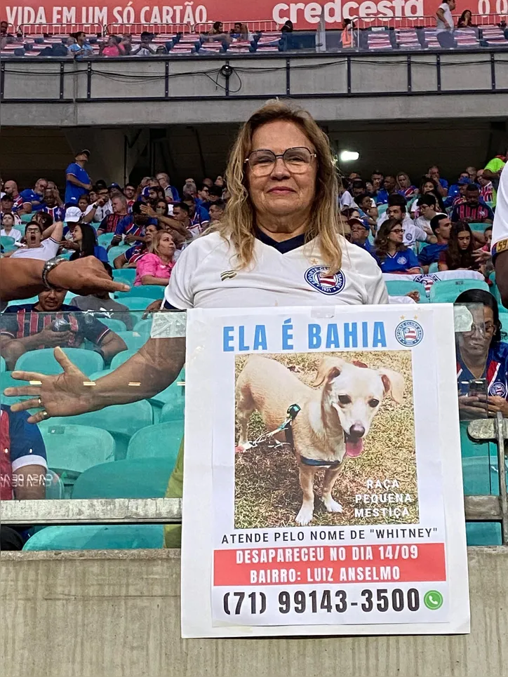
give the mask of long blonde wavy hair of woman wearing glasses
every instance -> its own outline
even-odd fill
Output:
[[[241,128],[229,155],[225,173],[231,194],[222,220],[215,226],[236,251],[237,267],[247,268],[254,261],[255,210],[248,191],[245,159],[252,149],[256,129],[269,122],[292,122],[307,136],[316,152],[316,192],[305,241],[319,236],[319,250],[330,274],[340,270],[342,250],[337,233],[342,233],[338,212],[337,173],[330,142],[316,121],[305,110],[293,109],[283,102],[270,102],[255,112]]]

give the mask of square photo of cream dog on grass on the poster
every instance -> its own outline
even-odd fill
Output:
[[[418,522],[411,351],[237,356],[235,380],[235,528]]]

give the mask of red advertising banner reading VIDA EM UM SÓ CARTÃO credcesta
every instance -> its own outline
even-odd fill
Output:
[[[82,2],[67,3],[41,0],[26,4],[6,4],[0,10],[0,19],[13,27],[20,25],[200,25],[207,22],[242,21],[251,30],[268,30],[267,21],[274,22],[272,29],[286,20],[293,21],[296,29],[316,29],[321,15],[329,29],[341,27],[345,18],[360,18],[359,27],[369,25],[393,25],[410,27],[415,20],[427,17],[427,25],[433,25],[439,0],[258,0],[255,3],[239,4],[236,0],[195,0],[185,2],[162,2],[147,4],[146,0],[105,1],[94,5]],[[475,0],[468,8],[473,13],[474,23],[484,25],[497,23],[508,14],[508,0]],[[256,25],[258,22],[258,25]],[[58,32],[58,31],[53,31]]]

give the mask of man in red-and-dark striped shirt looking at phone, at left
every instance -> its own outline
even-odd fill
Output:
[[[127,346],[123,339],[91,314],[64,304],[65,289],[48,289],[37,303],[13,305],[0,316],[0,353],[7,368],[18,358],[39,348],[79,348],[87,339],[106,362]]]

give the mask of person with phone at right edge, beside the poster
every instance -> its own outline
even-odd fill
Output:
[[[508,417],[508,344],[502,342],[493,295],[468,289],[455,301],[471,314],[469,330],[457,332],[457,387],[462,418]]]

